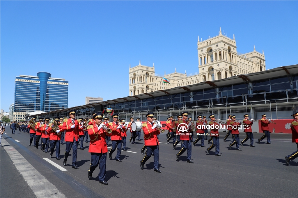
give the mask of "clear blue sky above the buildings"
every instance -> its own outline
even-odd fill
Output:
[[[85,96],[129,95],[128,68],[198,72],[198,36],[235,34],[237,51],[264,50],[266,68],[297,64],[298,1],[1,1],[0,108],[18,75],[69,81],[68,107]]]

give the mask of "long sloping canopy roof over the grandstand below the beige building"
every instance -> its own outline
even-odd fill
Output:
[[[37,115],[41,116],[41,115],[45,115],[45,114],[49,114],[49,113],[66,112],[66,111],[70,111],[72,109],[79,110],[79,109],[95,107],[98,105],[115,104],[115,103],[134,101],[136,99],[140,100],[140,99],[153,98],[153,97],[163,96],[164,94],[167,94],[167,95],[179,94],[179,93],[184,93],[184,92],[189,92],[189,91],[196,91],[196,90],[202,90],[202,89],[207,89],[207,88],[215,88],[217,86],[239,84],[239,83],[243,83],[243,82],[247,82],[247,81],[251,82],[251,81],[255,81],[255,80],[263,80],[263,79],[268,79],[268,78],[280,77],[280,76],[285,76],[285,75],[297,75],[297,74],[298,74],[298,64],[290,65],[290,66],[282,66],[282,67],[277,67],[274,69],[268,69],[268,70],[262,71],[262,72],[254,72],[254,73],[245,74],[245,75],[232,76],[232,77],[228,77],[228,78],[224,78],[224,79],[220,79],[220,80],[212,80],[212,81],[206,81],[206,82],[196,83],[196,84],[192,84],[192,85],[174,87],[174,88],[170,88],[170,89],[166,89],[166,90],[159,90],[159,91],[154,91],[154,92],[150,92],[150,93],[139,94],[137,96],[127,96],[125,98],[117,98],[117,99],[107,100],[107,101],[103,101],[103,102],[97,102],[97,103],[86,104],[86,105],[81,105],[81,106],[77,106],[77,107],[71,107],[71,108],[67,108],[67,109],[50,111],[47,113],[41,113],[41,114],[37,114]]]

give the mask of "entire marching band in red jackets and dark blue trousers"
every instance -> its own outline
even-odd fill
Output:
[[[113,119],[112,122],[109,122],[109,118],[105,117],[103,113],[94,112],[92,115],[92,119],[87,120],[83,118],[75,119],[76,111],[70,110],[68,112],[69,118],[61,117],[61,118],[53,118],[50,120],[49,118],[39,118],[36,122],[36,118],[31,118],[29,121],[25,121],[22,123],[17,123],[17,127],[20,131],[24,131],[30,134],[30,143],[34,142],[34,146],[36,149],[39,147],[39,140],[41,139],[41,150],[45,153],[50,153],[50,158],[56,149],[55,158],[60,160],[60,144],[63,144],[64,141],[64,133],[65,133],[65,141],[66,141],[66,150],[64,153],[63,166],[67,164],[67,158],[72,149],[72,168],[78,169],[77,162],[77,145],[80,142],[80,149],[83,149],[83,140],[85,138],[85,142],[88,142],[88,136],[90,138],[89,144],[89,153],[91,154],[91,164],[88,170],[88,178],[92,179],[92,173],[98,166],[100,168],[98,178],[100,183],[107,185],[108,183],[105,181],[105,172],[106,172],[106,158],[108,152],[108,142],[109,138],[112,141],[112,148],[109,151],[109,159],[112,159],[112,154],[117,148],[116,161],[121,162],[121,148],[123,145],[123,151],[126,150],[126,132],[130,130],[130,144],[135,144],[137,133],[141,131],[144,132],[144,146],[141,150],[141,154],[145,156],[140,161],[140,167],[143,170],[144,164],[153,156],[153,164],[154,171],[160,173],[159,170],[159,140],[158,135],[164,130],[161,129],[161,124],[159,121],[154,118],[154,113],[149,112],[146,115],[147,121],[140,122],[138,118],[136,122],[134,122],[134,117],[130,118],[130,122],[128,126],[125,124],[125,119],[118,119],[118,114],[112,114],[111,117]],[[297,144],[297,151],[294,153],[285,156],[286,164],[289,165],[290,161],[298,157],[298,112],[294,113],[293,121],[291,122],[291,131],[292,131],[292,142]],[[270,119],[266,118],[266,114],[262,115],[262,119],[254,120],[249,119],[249,114],[243,115],[244,119],[242,122],[238,122],[236,120],[235,115],[228,115],[228,119],[226,123],[215,119],[215,115],[212,113],[209,115],[210,121],[207,121],[207,116],[198,115],[197,121],[194,123],[191,118],[188,118],[188,112],[183,112],[181,115],[178,115],[178,120],[175,121],[173,116],[167,118],[166,127],[168,130],[167,134],[167,143],[170,143],[170,140],[173,139],[173,148],[176,150],[176,146],[181,142],[181,149],[176,154],[176,159],[179,161],[179,157],[187,151],[187,162],[193,164],[194,162],[191,159],[192,153],[192,142],[195,147],[199,140],[201,140],[201,147],[206,147],[204,145],[204,140],[207,140],[207,136],[210,135],[210,139],[208,143],[212,141],[212,145],[207,148],[207,155],[209,155],[210,151],[215,147],[215,156],[222,156],[219,152],[219,133],[218,126],[219,123],[224,124],[226,129],[228,130],[226,136],[224,137],[224,142],[232,134],[232,143],[228,145],[229,150],[232,149],[233,145],[236,145],[236,150],[241,151],[239,146],[243,146],[243,144],[250,139],[250,146],[255,147],[253,145],[254,136],[252,131],[253,122],[260,122],[261,130],[263,131],[263,136],[258,139],[258,143],[260,143],[265,137],[267,138],[267,144],[272,144],[270,141],[270,132],[268,124],[274,123]],[[239,139],[239,125],[243,125],[244,132],[246,133],[246,137],[240,141]],[[209,125],[209,128],[206,127]],[[184,130],[185,126],[187,126],[186,130]],[[197,138],[193,141],[193,130],[197,133]],[[210,132],[208,133],[208,129]],[[176,139],[177,137],[177,139]]]

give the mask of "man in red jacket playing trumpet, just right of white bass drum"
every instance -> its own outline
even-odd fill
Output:
[[[141,169],[144,169],[144,164],[146,161],[151,157],[152,152],[154,154],[153,156],[153,163],[154,163],[154,171],[155,172],[161,172],[158,167],[158,161],[159,161],[159,142],[157,139],[157,135],[160,134],[160,131],[158,129],[158,124],[153,124],[153,116],[154,113],[149,112],[146,115],[147,122],[144,122],[142,124],[142,129],[144,132],[144,140],[145,140],[145,146],[146,146],[146,155],[141,160]]]

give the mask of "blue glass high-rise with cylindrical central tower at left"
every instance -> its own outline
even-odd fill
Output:
[[[14,112],[55,111],[67,108],[68,81],[50,73],[15,78]]]

